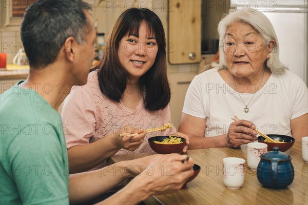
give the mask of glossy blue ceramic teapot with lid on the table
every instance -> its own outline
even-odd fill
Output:
[[[274,151],[264,153],[260,158],[257,177],[264,187],[281,189],[291,185],[294,179],[291,156],[274,147]]]

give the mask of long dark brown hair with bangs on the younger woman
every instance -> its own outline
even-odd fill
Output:
[[[156,111],[168,105],[170,88],[167,78],[165,32],[161,20],[151,10],[130,8],[119,16],[109,34],[101,64],[93,70],[99,70],[98,78],[102,93],[119,103],[128,79],[128,73],[119,61],[120,41],[127,34],[138,35],[143,21],[147,24],[150,34],[156,37],[158,52],[152,67],[140,77],[139,87],[145,108]]]

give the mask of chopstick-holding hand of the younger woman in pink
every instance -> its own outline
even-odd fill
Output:
[[[138,135],[129,137],[127,135],[119,137],[118,134],[120,133],[138,133]],[[115,146],[119,149],[125,149],[128,151],[135,151],[139,146],[142,144],[146,133],[143,129],[133,128],[131,126],[125,126],[123,130],[118,131],[114,136]]]

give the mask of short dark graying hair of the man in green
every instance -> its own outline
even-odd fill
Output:
[[[24,15],[21,38],[30,67],[45,68],[52,64],[65,40],[73,36],[79,44],[85,42],[90,23],[85,11],[91,5],[82,0],[40,0]]]

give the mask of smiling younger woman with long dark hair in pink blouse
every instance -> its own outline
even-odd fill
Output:
[[[149,9],[127,9],[107,43],[88,83],[74,87],[64,102],[63,123],[71,128],[66,142],[72,173],[103,167],[114,154],[151,153],[149,137],[176,132],[174,126],[143,131],[171,122],[165,33],[159,17]],[[138,135],[119,137],[120,133]],[[189,143],[186,135],[172,136]]]

